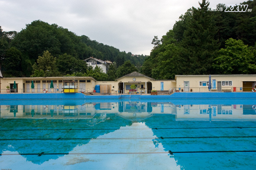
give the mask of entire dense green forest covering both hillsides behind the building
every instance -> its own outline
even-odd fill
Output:
[[[4,77],[92,76],[115,80],[132,71],[155,79],[188,74],[256,73],[256,1],[250,11],[226,12],[225,4],[210,8],[202,0],[189,8],[161,39],[154,36],[150,56],[120,52],[89,37],[77,36],[56,24],[36,20],[20,32],[0,26],[0,69]],[[113,62],[108,74],[92,69],[93,56]],[[48,71],[49,70],[49,71]]]

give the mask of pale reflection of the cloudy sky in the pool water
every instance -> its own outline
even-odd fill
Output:
[[[125,129],[125,134],[123,130]],[[134,131],[136,129],[136,131]],[[127,138],[116,140],[116,138]],[[136,138],[136,139],[134,139]],[[119,130],[98,136],[86,144],[78,144],[67,155],[56,159],[49,159],[41,164],[34,164],[18,154],[17,151],[3,151],[0,156],[0,165],[12,169],[180,169],[173,156],[164,151],[161,143],[155,147],[152,140],[143,138],[156,138],[152,130],[145,123],[132,123],[131,126],[120,127]],[[102,140],[104,142],[102,143]],[[141,153],[141,154],[132,154]],[[45,156],[45,155],[43,155]],[[114,162],[113,162],[114,161]],[[166,164],[168,162],[168,164]]]

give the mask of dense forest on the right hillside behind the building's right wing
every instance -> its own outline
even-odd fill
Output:
[[[225,12],[224,4],[211,9],[205,0],[199,4],[181,15],[161,39],[154,37],[143,74],[174,79],[188,74],[256,73],[256,1],[242,3],[248,5],[246,12]]]

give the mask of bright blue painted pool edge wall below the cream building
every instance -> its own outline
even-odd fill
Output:
[[[125,95],[129,96],[129,95]],[[131,95],[133,96],[133,95]],[[176,92],[172,95],[137,95],[140,99],[228,99],[228,98],[252,98],[256,99],[256,92]],[[119,99],[121,95],[90,95],[82,93],[64,94],[0,94],[1,99]]]

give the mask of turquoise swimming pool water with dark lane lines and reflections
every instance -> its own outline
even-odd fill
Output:
[[[1,100],[1,169],[255,169],[252,100]]]

